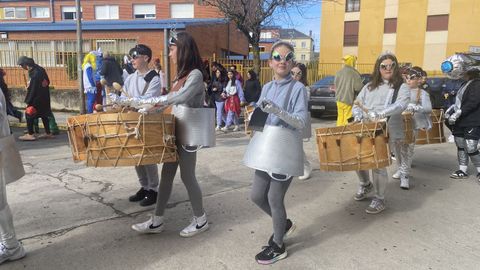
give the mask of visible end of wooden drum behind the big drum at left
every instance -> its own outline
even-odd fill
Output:
[[[85,141],[85,123],[87,115],[72,116],[67,119],[68,142],[72,151],[73,161],[85,161],[87,157],[87,142]]]

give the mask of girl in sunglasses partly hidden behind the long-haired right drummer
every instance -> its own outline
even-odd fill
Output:
[[[420,88],[422,84],[423,70],[420,67],[413,67],[406,70],[405,79],[410,88],[410,103],[408,103],[406,112],[412,113],[413,142],[397,140],[393,145],[395,157],[397,159],[398,170],[392,175],[394,179],[400,179],[400,188],[408,190],[410,188],[410,170],[412,167],[413,149],[415,147],[415,138],[418,130],[429,130],[432,128],[430,113],[432,112],[432,103],[430,95]]]

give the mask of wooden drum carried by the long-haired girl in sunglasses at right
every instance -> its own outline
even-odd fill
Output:
[[[391,164],[385,122],[317,128],[320,169],[357,171]]]

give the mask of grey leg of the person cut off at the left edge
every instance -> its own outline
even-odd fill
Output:
[[[5,178],[0,170],[0,242],[9,248],[18,246],[15,230],[13,229],[13,217],[7,203]]]

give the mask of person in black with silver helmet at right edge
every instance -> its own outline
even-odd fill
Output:
[[[469,160],[477,169],[480,183],[480,58],[469,54],[455,54],[442,63],[442,71],[452,79],[463,78],[466,83],[458,90],[455,104],[445,112],[447,127],[450,128],[457,145],[459,169],[450,177],[468,178]]]

